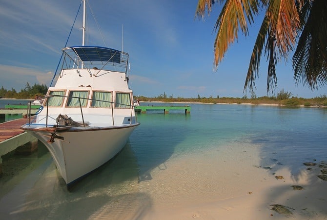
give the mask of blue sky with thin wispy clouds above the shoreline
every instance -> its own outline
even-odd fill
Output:
[[[250,98],[243,88],[262,16],[249,27],[249,36],[239,32],[215,70],[214,24],[221,6],[199,20],[197,2],[89,0],[85,45],[129,53],[129,85],[136,96]],[[80,4],[81,0],[0,0],[0,86],[20,91],[27,82],[50,85]],[[82,45],[81,27],[82,9],[67,46]],[[278,87],[267,93],[266,57],[261,60],[257,97],[276,96],[282,89],[302,98],[327,94],[327,86],[312,91],[296,84],[291,57],[279,62]]]

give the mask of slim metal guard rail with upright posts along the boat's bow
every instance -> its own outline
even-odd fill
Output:
[[[85,121],[84,121],[84,116],[83,116],[83,111],[82,111],[82,100],[91,100],[91,101],[102,101],[102,102],[107,102],[107,103],[111,103],[111,115],[112,115],[112,125],[115,125],[115,121],[114,121],[114,108],[113,106],[116,104],[119,105],[123,105],[123,106],[128,106],[131,108],[131,116],[130,116],[130,120],[129,120],[129,124],[132,124],[132,118],[133,118],[133,112],[135,112],[135,109],[137,109],[137,107],[135,105],[130,105],[130,104],[123,104],[123,103],[119,103],[119,102],[114,102],[114,101],[105,101],[105,100],[97,100],[97,99],[89,99],[89,98],[82,98],[82,97],[74,97],[74,96],[62,96],[62,95],[45,95],[44,98],[46,99],[45,102],[43,102],[43,104],[41,105],[40,109],[37,111],[36,115],[39,114],[41,112],[41,110],[44,108],[43,106],[46,106],[46,122],[45,122],[45,126],[48,127],[48,101],[49,98],[51,97],[61,97],[61,98],[74,98],[74,99],[78,99],[79,100],[79,105],[80,105],[80,109],[81,109],[81,116],[82,116],[82,125],[83,127],[85,127]],[[30,102],[31,103],[31,102]],[[31,125],[31,104],[28,105],[28,109],[27,109],[27,115],[29,116],[29,125]],[[137,122],[137,115],[135,115],[135,122]]]

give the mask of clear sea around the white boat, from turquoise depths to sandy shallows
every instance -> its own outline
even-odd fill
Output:
[[[141,103],[148,104],[185,103]],[[190,114],[138,114],[141,125],[123,151],[70,191],[41,143],[32,155],[3,156],[0,219],[142,219],[153,207],[234,196],[228,184],[254,169],[234,170],[245,161],[295,178],[303,162],[327,161],[327,108],[188,105]]]

